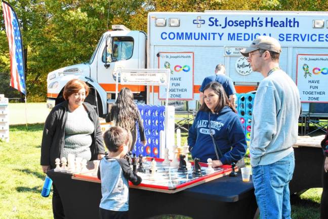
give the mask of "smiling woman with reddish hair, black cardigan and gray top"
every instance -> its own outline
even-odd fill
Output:
[[[56,167],[56,158],[74,154],[86,160],[99,160],[104,154],[104,144],[95,109],[84,102],[89,94],[88,85],[73,79],[65,85],[65,101],[56,105],[47,117],[41,144],[41,165],[46,173]],[[54,218],[65,218],[61,198],[53,184]]]

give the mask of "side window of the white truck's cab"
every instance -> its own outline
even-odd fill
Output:
[[[113,37],[113,46],[112,46],[112,60],[127,60],[132,57],[133,54],[133,38],[130,36],[115,36]],[[109,54],[107,53],[107,56]],[[104,49],[102,61],[106,61],[106,51]]]

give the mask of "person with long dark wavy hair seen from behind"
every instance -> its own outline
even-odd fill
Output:
[[[137,141],[137,127],[139,126],[140,141],[146,145],[145,130],[141,121],[137,105],[133,102],[133,93],[129,88],[122,88],[106,116],[106,122],[112,122],[114,126],[124,128],[129,134],[129,151],[133,150]]]

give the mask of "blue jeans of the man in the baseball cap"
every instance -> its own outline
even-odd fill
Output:
[[[261,219],[291,218],[289,182],[294,167],[294,152],[275,163],[252,167]]]

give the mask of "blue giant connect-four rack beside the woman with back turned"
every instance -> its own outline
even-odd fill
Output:
[[[164,130],[165,106],[145,104],[137,104],[137,106],[145,128],[147,144],[144,146],[141,143],[139,130],[137,130],[138,139],[132,153],[137,156],[141,154],[142,156],[159,158],[159,132]]]

